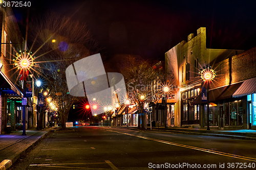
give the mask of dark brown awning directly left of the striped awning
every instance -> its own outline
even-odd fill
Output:
[[[241,83],[231,84],[224,87],[209,90],[209,102],[232,98],[233,93],[242,85]],[[202,102],[202,93],[200,93],[191,105],[199,105]]]

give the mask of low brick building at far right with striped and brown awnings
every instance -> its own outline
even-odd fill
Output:
[[[256,129],[256,47],[211,65],[217,72],[209,90],[211,128]],[[201,96],[191,104],[201,106],[205,127],[207,105]]]

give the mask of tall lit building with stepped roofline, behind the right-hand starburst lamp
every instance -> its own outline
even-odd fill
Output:
[[[206,48],[206,28],[199,28],[196,37],[194,34],[188,35],[187,42],[182,41],[165,53],[165,68],[174,73],[173,79],[168,78],[168,80],[172,85],[178,87],[177,102],[168,106],[168,110],[174,111],[173,126],[198,128],[205,126],[203,105],[200,102],[191,104],[201,94],[203,80],[198,73],[201,68],[209,65],[216,66],[215,63],[225,59],[230,60],[232,56],[241,53],[243,53],[241,50]],[[219,66],[224,71],[222,69],[224,65],[220,64]],[[219,74],[218,68],[217,74]],[[222,80],[221,83],[227,85]],[[221,85],[216,83],[215,86],[220,87]]]

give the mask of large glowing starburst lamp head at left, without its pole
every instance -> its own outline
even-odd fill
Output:
[[[34,58],[29,53],[21,53],[21,51],[19,51],[19,53],[16,53],[16,56],[16,59],[13,59],[13,61],[18,69],[25,70],[31,68],[34,65]]]

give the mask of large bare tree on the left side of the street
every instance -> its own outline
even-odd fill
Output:
[[[75,61],[98,52],[98,44],[93,40],[86,25],[69,17],[49,12],[34,21],[30,27],[37,67],[35,71],[46,79],[46,87],[57,102],[58,116],[62,129],[71,106],[79,99],[68,92],[66,68]]]

